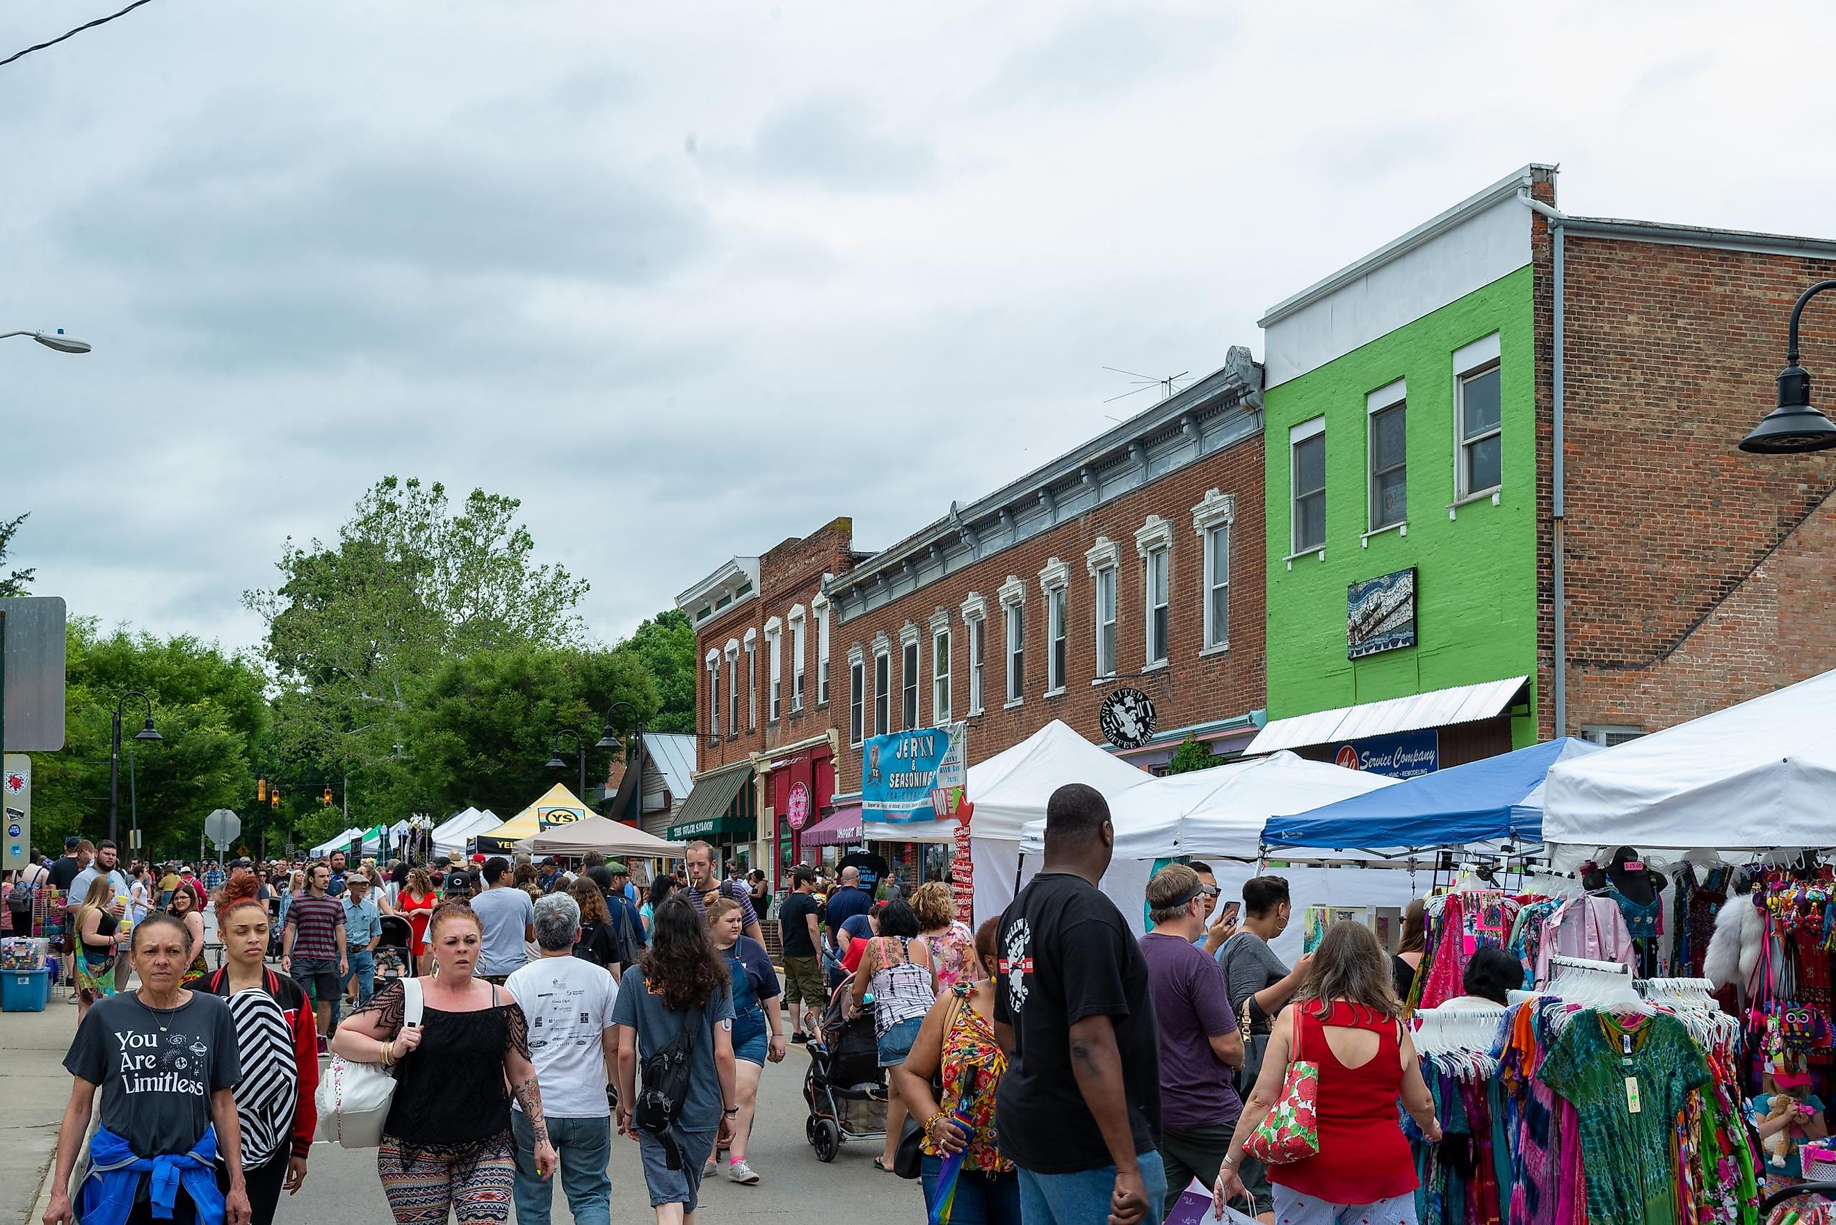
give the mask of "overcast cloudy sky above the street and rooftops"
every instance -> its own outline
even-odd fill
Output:
[[[9,4],[0,55],[119,7]],[[1511,173],[1836,235],[1827,4],[154,0],[0,68],[0,514],[73,613],[250,645],[384,474],[523,500],[611,641],[835,514],[881,547],[1120,365]],[[1825,90],[1827,94],[1827,90]]]

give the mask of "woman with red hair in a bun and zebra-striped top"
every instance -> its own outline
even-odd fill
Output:
[[[231,876],[217,891],[217,935],[224,966],[200,984],[222,995],[235,1021],[242,1078],[237,1082],[242,1177],[248,1185],[250,1225],[270,1225],[281,1190],[299,1190],[318,1109],[319,1036],[307,992],[268,970],[268,907],[257,900],[261,882]],[[218,1159],[217,1183],[230,1174]]]

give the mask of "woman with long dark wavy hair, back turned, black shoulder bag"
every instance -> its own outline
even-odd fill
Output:
[[[630,975],[628,975],[630,977]],[[637,1141],[659,1225],[694,1216],[701,1170],[716,1144],[733,1144],[733,988],[701,913],[681,896],[650,916],[650,948],[637,959],[611,1019],[619,1025],[619,1135]],[[687,1043],[688,1091],[668,1126],[639,1111],[637,1063]],[[657,1085],[646,1085],[655,1091]],[[635,1115],[635,1117],[633,1117]]]

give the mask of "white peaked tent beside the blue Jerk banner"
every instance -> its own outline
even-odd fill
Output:
[[[1151,775],[1111,757],[1059,720],[1012,749],[969,766],[969,858],[975,865],[975,922],[1006,909],[1019,889],[1021,830],[1045,819],[1045,803],[1067,782],[1087,782],[1116,803]],[[909,836],[909,834],[907,834]]]

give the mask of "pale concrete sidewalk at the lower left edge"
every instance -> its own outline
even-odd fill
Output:
[[[75,1034],[77,1010],[61,988],[51,988],[44,1012],[0,1012],[0,1225],[35,1216],[70,1100],[64,1052]]]

